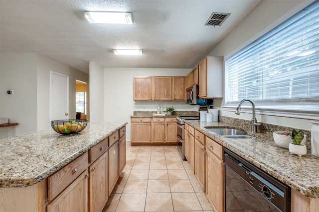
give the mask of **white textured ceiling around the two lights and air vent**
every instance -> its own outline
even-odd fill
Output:
[[[0,50],[38,52],[89,73],[194,68],[261,0],[0,0]],[[91,24],[84,11],[132,12],[134,24]],[[212,12],[231,13],[205,26]],[[113,49],[143,49],[117,56]]]

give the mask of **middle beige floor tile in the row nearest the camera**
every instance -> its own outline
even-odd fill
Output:
[[[151,193],[146,196],[146,212],[169,212],[173,211],[170,193]]]

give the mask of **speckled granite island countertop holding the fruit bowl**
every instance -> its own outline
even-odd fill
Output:
[[[52,175],[91,147],[127,125],[88,123],[71,135],[53,129],[0,140],[0,187],[26,187]]]

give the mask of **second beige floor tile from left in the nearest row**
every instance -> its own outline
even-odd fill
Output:
[[[122,194],[116,212],[143,212],[145,211],[146,193]]]

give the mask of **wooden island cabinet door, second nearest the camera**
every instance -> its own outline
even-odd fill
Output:
[[[90,212],[101,212],[108,200],[107,162],[105,152],[89,167],[90,173]]]

